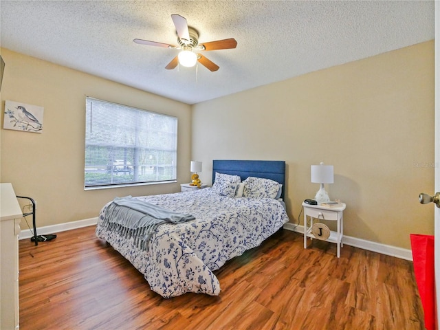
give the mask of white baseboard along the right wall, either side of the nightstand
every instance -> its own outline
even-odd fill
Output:
[[[295,225],[294,223],[285,223],[283,226],[286,230],[292,230],[294,232],[299,232],[300,234],[304,234],[304,226],[303,225]],[[392,245],[385,245],[381,243],[375,243],[372,241],[366,241],[364,239],[357,239],[356,237],[345,236],[344,235],[344,244],[354,246],[355,248],[360,248],[364,250],[369,250],[381,254],[386,254],[387,256],[395,256],[400,259],[405,259],[412,261],[412,252],[411,250],[397,248]]]

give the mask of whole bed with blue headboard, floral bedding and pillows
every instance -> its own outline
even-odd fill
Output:
[[[164,298],[186,292],[217,296],[221,289],[213,272],[289,221],[282,202],[285,162],[214,160],[212,183],[190,192],[109,201],[100,211],[96,236],[128,259]],[[153,208],[147,212],[151,215],[137,214],[144,205]],[[162,218],[166,211],[169,221]],[[138,217],[127,224],[133,212]],[[148,230],[145,219],[153,221]]]

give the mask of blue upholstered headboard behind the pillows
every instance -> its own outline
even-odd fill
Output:
[[[212,184],[215,173],[239,175],[241,181],[247,177],[263,177],[283,185],[281,198],[284,199],[286,162],[283,160],[223,160],[212,161]]]

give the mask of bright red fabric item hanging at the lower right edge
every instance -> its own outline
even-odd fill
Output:
[[[434,288],[434,236],[410,234],[412,263],[415,281],[419,287],[421,305],[425,312],[425,328],[434,330],[435,326],[435,288]]]

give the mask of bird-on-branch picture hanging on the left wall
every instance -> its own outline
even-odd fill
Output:
[[[44,108],[38,105],[5,101],[3,129],[42,133]]]

